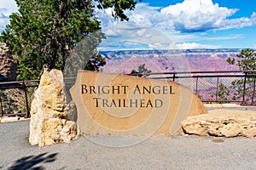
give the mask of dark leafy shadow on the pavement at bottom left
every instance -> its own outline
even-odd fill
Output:
[[[12,167],[9,167],[9,170],[23,170],[23,169],[31,169],[31,170],[43,170],[43,163],[50,163],[56,161],[56,156],[58,154],[40,154],[38,156],[25,156],[15,161],[15,164]]]

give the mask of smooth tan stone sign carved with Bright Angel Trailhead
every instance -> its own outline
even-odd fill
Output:
[[[177,133],[187,116],[207,113],[189,88],[171,81],[79,71],[70,91],[88,134]]]

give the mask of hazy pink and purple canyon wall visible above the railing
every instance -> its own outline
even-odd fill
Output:
[[[236,58],[239,52],[238,48],[102,51],[101,53],[107,58],[107,64],[102,71],[128,74],[142,64],[146,64],[152,72],[184,71],[183,69],[186,69],[185,71],[238,71],[238,66],[229,65],[226,59]],[[183,65],[184,62],[188,65]]]

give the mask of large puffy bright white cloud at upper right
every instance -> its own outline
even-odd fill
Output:
[[[229,19],[239,9],[219,7],[212,0],[184,0],[183,3],[162,8],[163,18],[172,22],[176,31],[199,32],[243,28],[256,24],[256,13],[250,18]]]

